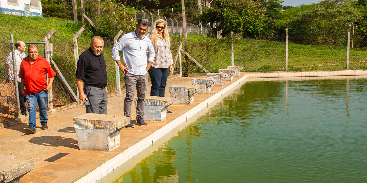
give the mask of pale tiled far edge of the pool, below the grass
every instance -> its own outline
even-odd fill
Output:
[[[350,76],[367,75],[367,70],[349,71],[308,71],[308,72],[275,72],[275,73],[248,73],[247,78],[280,78],[280,77],[311,77],[311,76]]]

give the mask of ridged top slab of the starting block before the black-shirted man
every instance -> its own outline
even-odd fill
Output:
[[[75,129],[119,129],[130,123],[126,116],[86,113],[74,117]]]

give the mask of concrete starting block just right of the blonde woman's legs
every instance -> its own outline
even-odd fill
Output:
[[[174,99],[173,104],[193,104],[194,93],[199,90],[199,86],[172,85],[169,90]]]

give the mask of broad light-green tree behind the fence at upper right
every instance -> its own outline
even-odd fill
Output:
[[[350,0],[324,0],[289,19],[285,26],[293,35],[321,35],[304,40],[304,44],[345,45],[344,34],[348,25],[362,19],[361,12],[353,7]]]

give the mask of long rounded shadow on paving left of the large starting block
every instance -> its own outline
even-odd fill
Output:
[[[60,136],[43,136],[43,137],[33,137],[29,139],[30,143],[37,145],[50,146],[50,147],[70,147],[73,149],[79,149],[78,141],[72,138],[60,137]]]

